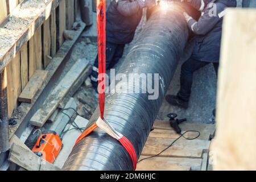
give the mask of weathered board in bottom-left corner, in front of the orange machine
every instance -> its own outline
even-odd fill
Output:
[[[11,147],[9,160],[28,171],[60,171],[53,164],[16,143]]]

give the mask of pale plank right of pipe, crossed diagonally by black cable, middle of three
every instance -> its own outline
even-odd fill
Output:
[[[143,148],[142,155],[152,156],[159,154],[165,148],[170,146],[175,139],[151,138],[148,137]],[[210,141],[208,140],[177,140],[176,143],[159,156],[179,156],[186,158],[201,158],[203,150],[208,150]]]

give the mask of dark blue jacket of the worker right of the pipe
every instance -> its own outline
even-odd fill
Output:
[[[194,38],[196,44],[191,57],[200,61],[218,63],[224,10],[227,7],[236,7],[237,2],[236,0],[204,0],[204,2],[205,8],[198,22],[194,19],[188,22],[189,28],[196,34]],[[216,14],[212,3],[216,6]]]

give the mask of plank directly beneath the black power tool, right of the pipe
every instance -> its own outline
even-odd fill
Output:
[[[183,132],[187,130],[197,130],[197,131],[200,131],[200,133],[202,134],[209,133],[210,136],[213,136],[215,132],[215,125],[210,125],[210,124],[184,122],[184,123],[181,123],[179,126]],[[169,121],[162,121],[162,120],[156,120],[154,122],[154,129],[173,130]]]

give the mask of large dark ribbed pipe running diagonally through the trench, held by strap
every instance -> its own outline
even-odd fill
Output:
[[[187,5],[175,3],[168,9],[156,7],[131,48],[119,73],[159,73],[159,97],[148,100],[143,93],[111,93],[106,97],[105,118],[133,144],[137,158],[158,114],[181,53],[188,40],[183,11]],[[123,84],[123,81],[117,82]],[[128,84],[133,90],[139,84]],[[99,117],[98,109],[88,126]],[[133,170],[130,156],[121,144],[97,129],[73,148],[63,170]]]

